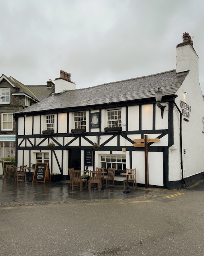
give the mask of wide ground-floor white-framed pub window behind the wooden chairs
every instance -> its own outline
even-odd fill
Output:
[[[104,160],[103,160],[104,159]],[[126,170],[126,156],[124,155],[101,155],[101,167],[105,169],[116,168],[116,170]]]

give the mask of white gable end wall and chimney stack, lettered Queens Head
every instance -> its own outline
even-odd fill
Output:
[[[204,171],[204,133],[202,132],[202,117],[204,117],[204,101],[199,84],[198,56],[192,46],[177,48],[177,72],[190,70],[182,86],[176,92],[177,106],[182,112],[180,100],[191,107],[190,116],[182,116],[182,158],[184,178]],[[184,93],[186,92],[186,93]],[[180,114],[174,108],[174,145],[169,148],[169,180],[181,179],[180,167]],[[188,122],[184,121],[186,118]],[[183,150],[186,150],[184,154]]]

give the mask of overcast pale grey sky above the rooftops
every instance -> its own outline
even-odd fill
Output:
[[[71,73],[83,88],[175,69],[193,37],[204,93],[204,0],[0,0],[0,75],[26,85]]]

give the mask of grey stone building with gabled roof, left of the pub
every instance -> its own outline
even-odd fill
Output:
[[[15,157],[16,122],[13,114],[51,95],[52,81],[47,85],[25,86],[12,76],[0,77],[0,159]],[[23,127],[22,127],[23,129]]]

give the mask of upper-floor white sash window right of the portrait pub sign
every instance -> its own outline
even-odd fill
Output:
[[[120,112],[120,113],[119,113]],[[122,126],[122,109],[107,110],[107,127]]]

